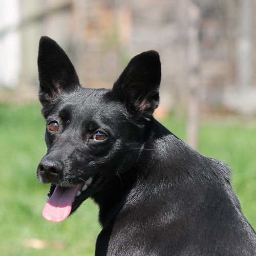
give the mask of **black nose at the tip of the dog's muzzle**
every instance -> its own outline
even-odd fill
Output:
[[[38,175],[48,182],[56,180],[62,175],[63,163],[60,160],[43,158],[38,165]]]

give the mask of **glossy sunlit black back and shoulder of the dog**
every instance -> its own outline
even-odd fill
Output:
[[[228,165],[202,156],[156,120],[151,125],[109,250],[132,254],[143,244],[141,255],[250,255],[255,233],[230,185]]]

